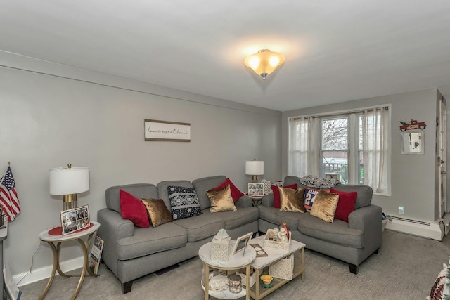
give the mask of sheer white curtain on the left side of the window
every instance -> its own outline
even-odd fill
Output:
[[[320,176],[319,125],[319,118],[290,119],[288,175]]]

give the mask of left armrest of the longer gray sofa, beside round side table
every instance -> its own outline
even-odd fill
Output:
[[[100,223],[97,235],[105,242],[102,259],[117,275],[117,244],[122,238],[134,235],[134,224],[108,208],[97,212],[97,221]]]

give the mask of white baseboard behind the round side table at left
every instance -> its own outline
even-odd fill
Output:
[[[64,273],[69,272],[71,270],[75,270],[77,268],[82,268],[83,256],[79,256],[75,259],[70,259],[68,261],[61,261],[59,265]],[[31,272],[16,274],[13,275],[13,282],[18,287],[21,287],[23,285],[29,285],[30,283],[37,282],[39,280],[48,279],[50,278],[52,269],[53,266],[45,266],[42,268],[32,270]],[[59,275],[58,271],[56,271],[56,275]]]

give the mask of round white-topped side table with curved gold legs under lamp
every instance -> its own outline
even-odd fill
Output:
[[[51,270],[51,275],[49,278],[49,282],[47,282],[47,285],[44,289],[44,292],[39,297],[39,300],[44,299],[47,292],[49,292],[50,286],[53,282],[53,279],[55,279],[56,270],[58,270],[59,275],[64,277],[79,277],[79,282],[77,285],[77,289],[75,289],[75,293],[72,295],[72,300],[77,298],[77,294],[79,290],[82,288],[84,276],[86,275],[86,271],[89,273],[88,276],[99,276],[94,274],[91,269],[88,267],[89,263],[89,257],[88,257],[88,249],[91,245],[92,236],[98,228],[100,228],[100,223],[91,221],[91,226],[89,228],[86,228],[84,230],[77,231],[75,233],[69,233],[68,235],[54,235],[52,231],[55,231],[56,228],[50,228],[42,231],[39,234],[39,239],[41,239],[42,242],[46,242],[50,245],[51,251],[53,252],[53,269]],[[60,227],[59,227],[60,228]],[[60,232],[61,233],[61,232]],[[84,243],[83,237],[87,236],[86,243]],[[83,250],[83,270],[80,275],[67,275],[65,274],[60,266],[59,266],[59,254],[61,249],[61,243],[68,242],[70,240],[77,240],[79,244],[82,247]]]

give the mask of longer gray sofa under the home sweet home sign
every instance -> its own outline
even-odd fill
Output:
[[[259,210],[252,200],[242,196],[237,211],[210,213],[205,193],[219,186],[226,176],[199,178],[194,181],[162,181],[158,185],[143,183],[113,186],[106,190],[106,208],[97,213],[101,223],[98,236],[104,240],[102,260],[122,283],[122,293],[131,291],[133,280],[167,268],[198,255],[198,249],[210,242],[224,228],[232,239],[258,230]],[[170,211],[168,185],[195,188],[203,214],[165,223],[156,228],[139,228],[120,214],[119,190],[139,198],[164,200]]]

